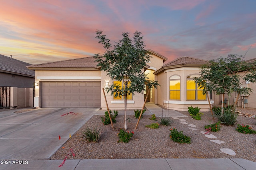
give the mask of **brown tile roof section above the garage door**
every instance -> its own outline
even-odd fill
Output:
[[[30,70],[98,70],[94,57],[84,57],[27,66]]]

